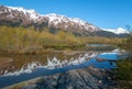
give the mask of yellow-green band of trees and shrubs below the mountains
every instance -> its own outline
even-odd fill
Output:
[[[58,30],[51,33],[47,27],[42,31],[34,27],[0,26],[0,51],[32,53],[46,48],[73,48],[92,43],[118,44],[122,38],[99,36],[75,36],[72,32]]]

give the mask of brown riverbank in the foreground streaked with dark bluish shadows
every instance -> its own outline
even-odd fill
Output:
[[[113,89],[116,87],[110,71],[90,66],[40,77],[3,89]]]

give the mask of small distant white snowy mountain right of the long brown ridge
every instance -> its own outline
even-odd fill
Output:
[[[105,31],[108,31],[108,32],[112,32],[114,34],[129,34],[129,31],[125,30],[125,29],[122,29],[122,27],[118,27],[118,29],[102,29]]]

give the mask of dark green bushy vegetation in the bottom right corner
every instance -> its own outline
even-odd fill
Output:
[[[121,59],[117,63],[118,68],[114,69],[116,81],[120,89],[132,88],[132,57]]]

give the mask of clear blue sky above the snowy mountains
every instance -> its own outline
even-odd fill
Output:
[[[132,25],[132,0],[0,0],[0,4],[79,18],[102,29]]]

